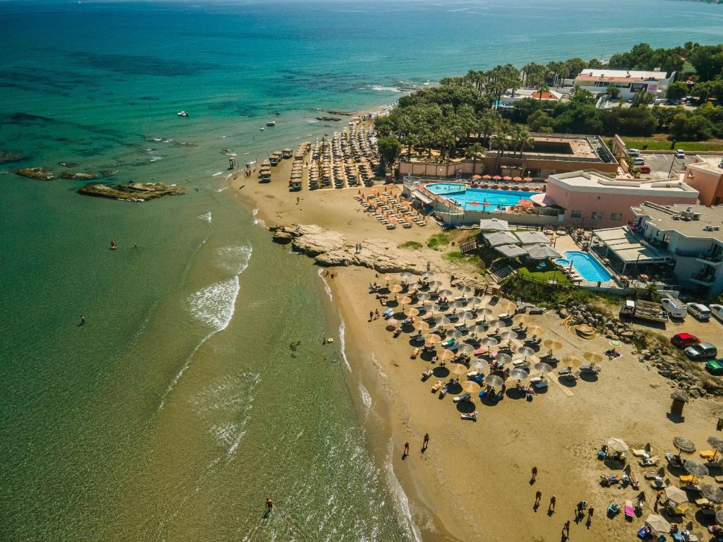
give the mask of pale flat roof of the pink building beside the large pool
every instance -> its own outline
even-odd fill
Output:
[[[568,189],[579,189],[581,192],[601,192],[604,194],[621,194],[625,192],[638,192],[642,194],[678,193],[690,197],[692,202],[698,199],[698,191],[683,181],[641,180],[628,177],[612,178],[602,173],[590,170],[570,171],[570,173],[556,173],[550,175],[547,182],[552,182]]]

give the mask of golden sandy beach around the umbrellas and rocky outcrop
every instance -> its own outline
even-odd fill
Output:
[[[427,228],[385,230],[362,212],[354,200],[357,189],[288,192],[290,167],[291,160],[285,160],[275,168],[270,184],[258,184],[253,177],[244,179],[242,174],[231,179],[233,192],[252,202],[258,217],[269,226],[318,224],[343,233],[348,244],[368,238],[425,244],[439,231],[433,223]],[[415,253],[419,262],[430,262],[437,273],[435,278],[445,283],[443,288],[448,287],[452,273],[471,278],[476,273],[473,268],[450,264],[440,252],[426,246]],[[383,319],[369,322],[369,311],[383,310],[367,288],[369,283],[380,281],[378,274],[364,267],[335,267],[331,271],[336,276],[327,280],[346,323],[351,378],[369,390],[372,411],[388,425],[384,433],[393,443],[393,469],[425,541],[552,541],[560,537],[566,520],[571,522],[570,538],[575,540],[632,540],[645,517],[653,512],[656,492],[643,479],[643,473],[655,469],[642,468],[628,454],[632,472],[640,478],[640,490],[646,494],[646,504],[641,517],[633,521],[626,521],[622,514],[609,519],[606,510],[611,502],[635,501],[640,491],[600,485],[600,476],[623,473],[622,465],[610,468],[596,459],[600,444],[612,436],[625,440],[631,449],[649,443],[654,455],[663,458],[665,452],[675,452],[673,436],[685,436],[699,449],[707,449],[706,438],[716,434],[719,405],[714,401],[701,399],[686,405],[685,423],[667,417],[669,381],[638,362],[630,345],[619,349],[621,358],[603,361],[597,377],[558,381],[556,370],[547,392],[531,402],[514,391],[508,391],[508,396],[493,406],[474,397],[479,419],[463,421],[452,395],[440,400],[432,394],[436,377],[421,381],[422,371],[432,365],[419,357],[410,359],[414,349],[410,335],[403,332],[394,338],[385,330]],[[476,278],[479,280],[479,274]],[[493,314],[501,311],[493,305],[490,308]],[[560,340],[562,349],[555,352],[556,358],[581,356],[584,351],[602,353],[610,348],[604,337],[584,340],[560,322],[552,312],[531,316],[529,322],[546,330],[544,339]],[[532,372],[534,376],[534,369]],[[354,384],[350,388],[354,389]],[[430,443],[423,453],[425,433],[429,433]],[[410,454],[403,459],[405,442],[410,443]],[[378,451],[387,447],[388,443],[380,442]],[[664,463],[663,458],[660,465]],[[534,466],[539,474],[531,483]],[[671,473],[666,476],[675,480]],[[542,491],[539,509],[533,507],[536,491]],[[549,513],[553,495],[557,499],[555,512]],[[595,509],[589,525],[573,522],[573,509],[582,500]],[[692,507],[682,524],[695,513]],[[703,528],[695,525],[693,530],[702,532]]]

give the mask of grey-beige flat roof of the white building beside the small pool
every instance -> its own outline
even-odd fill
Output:
[[[681,213],[690,210],[693,213],[700,213],[698,220],[681,220],[673,218]],[[648,222],[659,230],[677,231],[690,238],[711,238],[723,241],[723,205],[718,207],[706,207],[705,205],[657,205],[651,202],[643,202],[639,207],[633,207],[636,215],[649,216]],[[718,231],[706,231],[706,225],[719,226]]]

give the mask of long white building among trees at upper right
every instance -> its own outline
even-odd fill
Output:
[[[615,87],[620,90],[620,98],[629,100],[637,92],[653,93],[656,98],[665,98],[668,85],[675,78],[675,72],[667,76],[666,72],[638,72],[625,69],[586,68],[575,78],[575,85],[594,95],[609,92]]]

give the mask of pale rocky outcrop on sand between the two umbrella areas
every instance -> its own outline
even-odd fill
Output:
[[[356,251],[354,246],[346,244],[343,234],[315,224],[275,226],[270,230],[274,232],[273,241],[291,243],[294,250],[325,267],[359,265],[382,273],[423,271],[409,251],[398,249],[396,244],[384,239],[365,239],[361,250]]]

